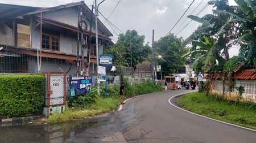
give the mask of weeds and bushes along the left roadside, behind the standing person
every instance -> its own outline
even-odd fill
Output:
[[[163,91],[162,86],[155,85],[152,81],[131,85],[127,79],[125,83],[125,98],[135,97],[141,94]],[[53,113],[48,123],[68,122],[76,119],[89,118],[91,116],[114,111],[119,105],[119,85],[108,86],[108,98],[105,94],[105,85],[100,86],[100,96],[97,88],[93,88],[85,96],[67,97],[67,108],[63,114]]]

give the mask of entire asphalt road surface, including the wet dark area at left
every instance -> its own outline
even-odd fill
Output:
[[[254,142],[256,132],[193,115],[168,100],[192,90],[131,98],[122,109],[92,119],[0,127],[0,142]],[[118,111],[119,110],[119,111]]]

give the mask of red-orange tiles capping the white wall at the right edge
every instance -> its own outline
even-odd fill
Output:
[[[256,69],[242,70],[234,76],[237,80],[256,80]]]

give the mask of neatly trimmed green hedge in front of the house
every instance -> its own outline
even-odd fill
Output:
[[[0,76],[0,118],[29,116],[44,103],[43,75]]]

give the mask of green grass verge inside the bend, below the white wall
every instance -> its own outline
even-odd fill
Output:
[[[196,114],[256,129],[256,104],[228,101],[206,93],[193,92],[179,97],[177,104]]]

